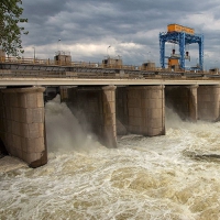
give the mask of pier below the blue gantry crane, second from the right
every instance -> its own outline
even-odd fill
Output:
[[[198,86],[166,86],[166,106],[173,108],[183,120],[197,120]]]

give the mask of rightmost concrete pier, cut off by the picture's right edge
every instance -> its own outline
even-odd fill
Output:
[[[220,120],[220,86],[199,86],[198,118],[200,120]]]

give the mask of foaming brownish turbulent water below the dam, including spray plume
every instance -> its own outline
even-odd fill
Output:
[[[1,220],[220,219],[219,122],[166,109],[165,136],[125,135],[110,150],[56,98],[46,127],[48,164],[0,173]]]

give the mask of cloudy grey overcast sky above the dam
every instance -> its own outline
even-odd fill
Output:
[[[65,51],[76,62],[119,55],[123,64],[150,59],[160,66],[158,34],[177,23],[204,34],[205,68],[220,67],[219,0],[23,0],[22,7],[29,19],[29,35],[22,36],[24,57],[33,57],[35,48],[37,58]],[[166,44],[166,55],[173,47]],[[198,44],[187,51],[191,56],[187,65],[195,66]]]

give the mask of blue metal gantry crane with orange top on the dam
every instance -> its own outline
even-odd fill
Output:
[[[170,56],[165,56],[165,43],[173,43],[179,46],[179,54],[175,53],[175,48]],[[186,69],[185,59],[190,61],[189,52],[186,46],[198,43],[199,46],[199,65],[197,68],[204,70],[204,35],[195,34],[194,29],[182,26],[179,24],[168,24],[167,32],[160,33],[160,62],[161,67],[165,68],[165,58],[168,58],[168,67]]]

